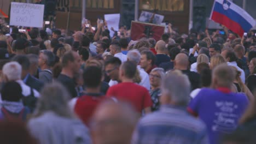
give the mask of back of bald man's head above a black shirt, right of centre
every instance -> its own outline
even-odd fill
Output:
[[[176,57],[175,57],[175,61],[174,61],[175,65],[175,69],[179,69],[179,70],[187,70],[188,69],[188,65],[189,65],[189,58],[187,55],[185,55],[185,53],[179,53]]]

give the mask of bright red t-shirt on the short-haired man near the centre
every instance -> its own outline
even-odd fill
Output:
[[[130,103],[139,113],[146,107],[152,106],[148,90],[132,82],[122,82],[114,85],[108,89],[106,95]]]

